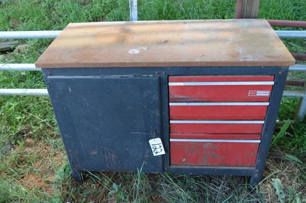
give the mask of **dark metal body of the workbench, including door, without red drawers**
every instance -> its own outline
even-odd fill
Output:
[[[246,175],[259,182],[288,67],[42,68],[76,182],[80,171]],[[168,76],[274,75],[255,167],[170,165]],[[166,154],[153,156],[161,138]]]

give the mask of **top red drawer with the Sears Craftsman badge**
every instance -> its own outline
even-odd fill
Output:
[[[269,101],[274,76],[169,76],[170,102]]]

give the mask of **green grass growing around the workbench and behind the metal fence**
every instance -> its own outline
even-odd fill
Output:
[[[27,0],[0,6],[1,31],[62,30],[70,22],[129,20],[126,0]],[[298,0],[261,1],[259,18],[306,20],[305,7],[306,2]],[[231,19],[234,12],[233,0],[138,1],[139,20]],[[19,41],[29,46],[25,53],[2,53],[0,63],[34,63],[52,39]],[[283,42],[291,52],[306,53],[304,39]],[[305,74],[289,77],[305,79]],[[0,72],[0,88],[45,85],[40,72]],[[293,119],[297,102],[283,98],[278,119]],[[290,124],[285,133],[278,131],[280,127],[258,185],[239,176],[90,172],[83,185],[76,185],[49,98],[0,96],[0,202],[277,202],[272,178],[281,180],[287,202],[297,202],[289,201],[290,194],[293,200],[306,198],[306,124],[303,120]]]

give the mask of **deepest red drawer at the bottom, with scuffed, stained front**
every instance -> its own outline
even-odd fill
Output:
[[[177,138],[184,136],[186,138]],[[194,139],[194,136],[198,138]],[[238,136],[244,139],[239,139]],[[223,139],[224,137],[227,139]],[[253,167],[259,139],[260,135],[254,134],[170,134],[170,163],[171,165]]]

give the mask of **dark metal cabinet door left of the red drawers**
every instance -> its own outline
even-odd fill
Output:
[[[149,145],[162,136],[158,76],[48,76],[47,84],[74,169],[162,172],[164,155]]]

